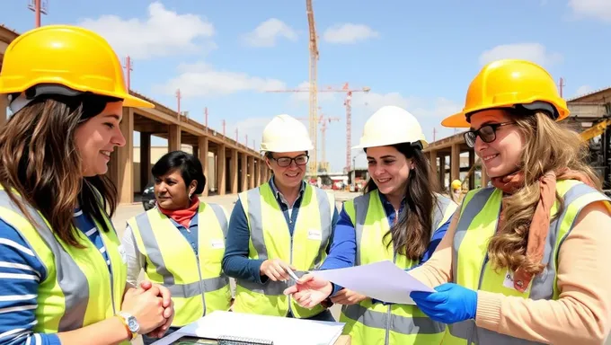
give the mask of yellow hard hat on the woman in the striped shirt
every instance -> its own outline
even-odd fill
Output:
[[[120,98],[125,107],[155,107],[128,93],[111,45],[97,33],[75,26],[42,26],[24,32],[6,48],[0,93],[23,93],[45,84]]]

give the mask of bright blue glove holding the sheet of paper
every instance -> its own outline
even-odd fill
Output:
[[[477,292],[454,283],[442,284],[437,292],[413,291],[413,301],[433,321],[459,323],[474,319],[477,311]]]

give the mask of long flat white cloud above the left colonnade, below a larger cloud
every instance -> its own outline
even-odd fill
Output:
[[[197,97],[286,88],[286,85],[278,79],[217,70],[204,62],[181,64],[178,66],[178,72],[178,76],[166,83],[155,85],[155,92],[174,94],[176,89],[180,88],[183,97]]]

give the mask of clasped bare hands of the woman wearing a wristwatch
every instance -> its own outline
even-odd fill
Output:
[[[164,327],[168,318],[173,318],[172,299],[166,290],[150,281],[143,281],[140,287],[129,288],[123,296],[121,310],[136,317],[137,323],[140,324],[139,334]],[[168,318],[165,315],[168,315]]]

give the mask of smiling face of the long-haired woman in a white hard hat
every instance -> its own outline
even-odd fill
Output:
[[[412,160],[393,146],[367,148],[367,171],[382,194],[403,198],[412,168]]]

